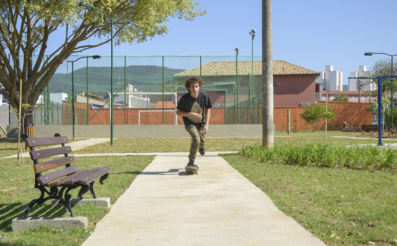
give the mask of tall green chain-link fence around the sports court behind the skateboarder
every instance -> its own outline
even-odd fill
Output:
[[[51,78],[34,111],[35,125],[110,124],[111,57],[71,55]],[[188,76],[201,76],[213,103],[210,124],[260,124],[260,56],[115,56],[114,124],[183,124],[175,115]],[[21,59],[22,60],[22,59]],[[72,103],[74,100],[74,103]],[[9,123],[17,124],[10,113]]]

